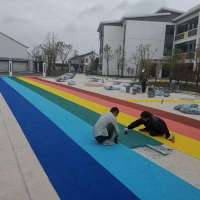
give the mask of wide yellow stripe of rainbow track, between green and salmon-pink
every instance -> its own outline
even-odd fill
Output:
[[[64,99],[67,99],[71,102],[74,102],[80,106],[84,106],[85,108],[88,108],[89,110],[99,113],[99,114],[103,114],[105,112],[109,111],[108,107],[105,107],[103,105],[94,103],[92,101],[86,100],[84,98],[80,98],[78,96],[72,95],[66,91],[60,91],[56,88],[32,81],[28,78],[19,78],[20,80],[27,82],[31,85],[34,85],[36,87],[39,87],[43,90],[46,90],[52,94],[55,94],[59,97],[62,97]],[[133,116],[130,116],[128,114],[125,114],[123,112],[120,112],[119,117],[118,117],[118,122],[124,126],[127,126],[128,124],[130,124],[130,122],[134,121],[136,118],[134,118]],[[184,135],[172,132],[175,136],[176,136],[176,142],[175,143],[171,143],[169,141],[167,141],[166,139],[164,139],[163,137],[156,137],[154,139],[172,147],[175,148],[181,152],[184,152],[186,154],[189,154],[195,158],[200,159],[200,141],[194,140],[192,138],[186,137]],[[148,136],[149,137],[149,136]]]

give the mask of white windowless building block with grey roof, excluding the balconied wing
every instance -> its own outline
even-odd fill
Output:
[[[161,77],[161,61],[166,52],[172,52],[174,39],[173,19],[182,15],[180,11],[162,8],[148,16],[125,17],[118,22],[103,22],[98,28],[100,36],[100,65],[103,75],[117,75],[116,49],[122,47],[123,76],[136,76],[136,65],[133,56],[139,45],[149,46],[151,58],[157,63],[158,75]],[[107,62],[104,47],[112,49],[112,58]]]

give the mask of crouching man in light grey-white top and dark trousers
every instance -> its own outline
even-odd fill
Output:
[[[94,136],[99,144],[112,145],[118,143],[120,132],[116,119],[118,114],[119,109],[113,107],[109,113],[102,115],[96,122],[94,126]]]

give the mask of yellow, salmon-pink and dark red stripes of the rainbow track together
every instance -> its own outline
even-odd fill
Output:
[[[119,123],[127,126],[131,121],[135,120],[136,117],[139,116],[141,112],[141,108],[139,106],[130,107],[130,105],[125,104],[123,101],[113,101],[113,98],[99,98],[98,95],[94,93],[85,93],[85,91],[76,90],[74,88],[68,86],[62,86],[59,84],[51,83],[44,80],[39,80],[35,78],[20,78],[29,84],[42,88],[48,92],[51,92],[57,96],[68,99],[78,105],[88,108],[96,113],[105,113],[109,110],[109,108],[113,105],[116,105],[120,108],[120,116]],[[137,109],[138,107],[138,109]],[[145,108],[143,108],[145,109]],[[151,109],[155,113],[155,109]],[[163,112],[163,111],[162,111]],[[157,112],[160,115],[160,113]],[[170,119],[166,117],[168,113],[161,113],[161,116],[164,115],[163,119],[167,122],[170,131],[176,135],[176,142],[173,144],[163,139],[162,137],[157,137],[156,140],[165,143],[172,148],[175,148],[181,152],[189,154],[195,158],[200,159],[200,122],[197,120],[184,118],[180,116],[176,117],[176,121],[173,117]],[[182,121],[182,122],[179,122]],[[184,123],[183,123],[184,122]],[[193,123],[193,124],[192,124]],[[192,126],[191,126],[192,124]]]

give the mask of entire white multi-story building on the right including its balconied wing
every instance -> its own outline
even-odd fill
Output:
[[[102,74],[107,75],[107,62],[104,56],[106,45],[112,49],[109,75],[119,74],[118,59],[115,56],[119,47],[122,48],[122,69],[125,76],[136,75],[137,67],[133,55],[136,55],[137,47],[141,44],[149,46],[158,78],[165,74],[162,65],[166,60],[165,57],[171,55],[172,52],[185,54],[186,58],[191,57],[193,53],[193,57],[195,57],[195,49],[200,35],[199,13],[200,5],[185,13],[161,8],[152,15],[124,17],[120,21],[100,23],[98,32]],[[188,59],[186,67],[193,69],[193,61]]]

